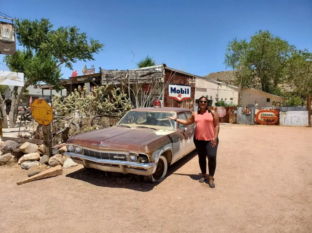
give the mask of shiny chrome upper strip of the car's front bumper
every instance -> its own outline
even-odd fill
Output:
[[[138,168],[151,168],[154,167],[154,162],[149,163],[138,163],[138,162],[131,162],[131,161],[119,161],[119,160],[110,160],[110,159],[98,159],[94,157],[84,156],[77,153],[72,152],[65,152],[65,155],[78,157],[80,159],[90,160],[94,162],[100,162],[100,163],[108,163],[108,164],[115,164],[115,165],[126,165],[131,167],[138,167]]]

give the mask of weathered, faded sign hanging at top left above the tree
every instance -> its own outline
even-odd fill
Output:
[[[0,22],[0,54],[13,55],[15,52],[16,45],[14,24]]]

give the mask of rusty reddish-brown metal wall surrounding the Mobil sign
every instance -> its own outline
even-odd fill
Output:
[[[191,99],[177,101],[168,97],[169,84],[183,84],[191,86]],[[195,97],[195,77],[165,69],[164,107],[180,107],[193,110]]]

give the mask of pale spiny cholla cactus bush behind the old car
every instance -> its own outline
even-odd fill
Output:
[[[61,96],[56,96],[52,100],[52,105],[57,113],[61,116],[70,116],[76,110],[85,116],[112,114],[123,115],[125,112],[132,109],[132,104],[128,101],[125,94],[118,94],[119,88],[111,91],[110,99],[104,97],[107,86],[94,87],[92,93],[87,93],[84,87],[81,90],[75,89],[68,97],[61,102]]]

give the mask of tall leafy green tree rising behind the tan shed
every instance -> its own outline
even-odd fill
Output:
[[[242,87],[256,87],[264,92],[280,93],[285,82],[286,67],[295,47],[268,31],[259,31],[246,39],[235,38],[227,45],[225,65],[236,70],[243,66]]]

